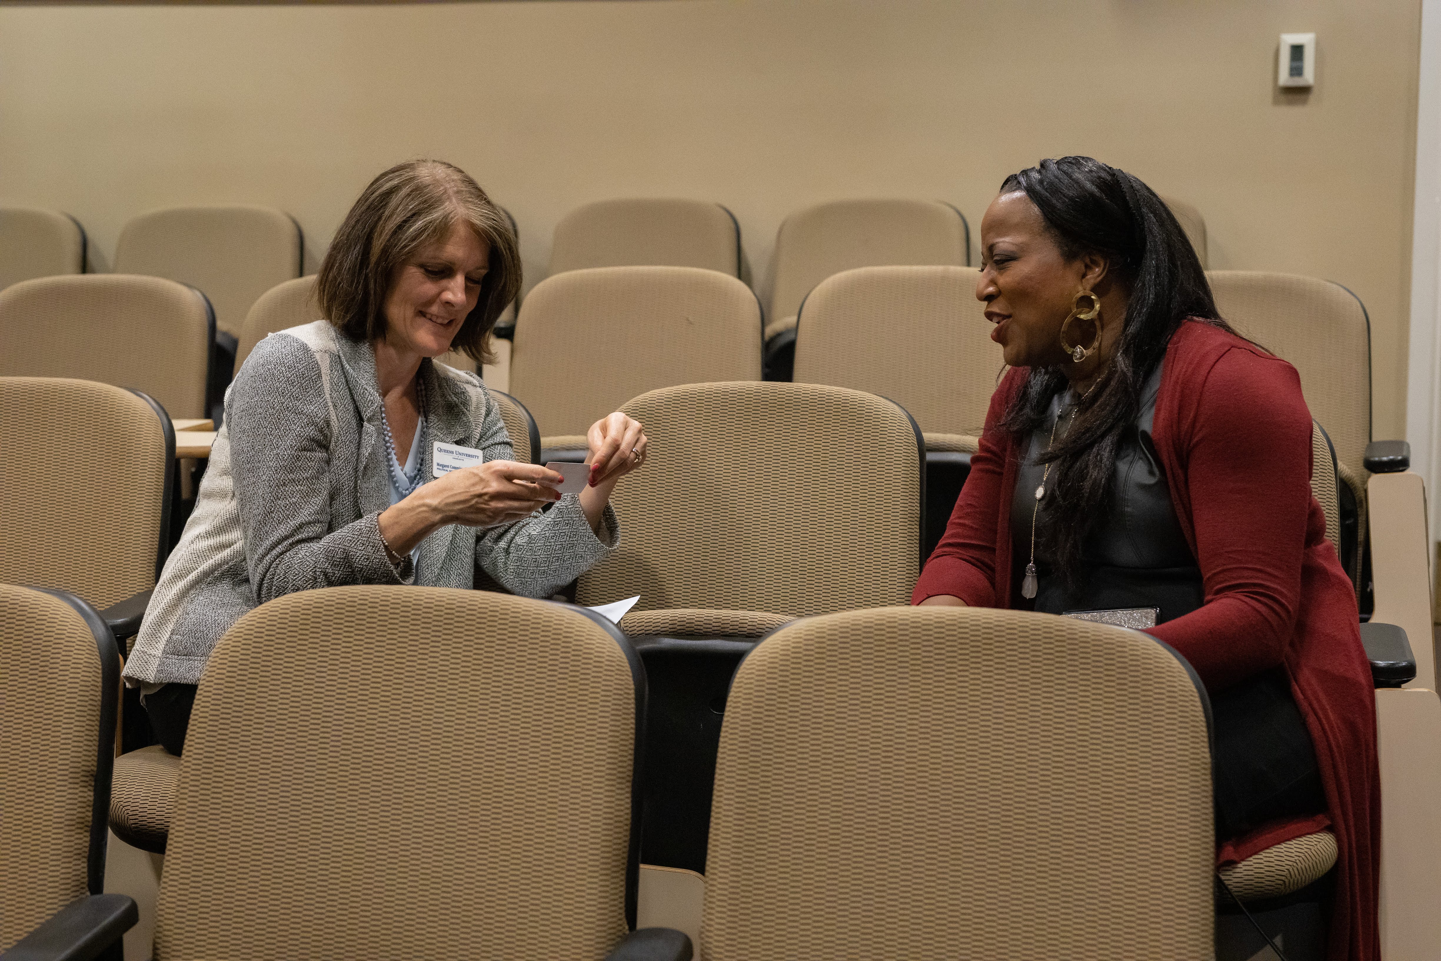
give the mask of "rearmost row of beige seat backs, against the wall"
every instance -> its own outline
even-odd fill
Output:
[[[1167,203],[1205,265],[1200,213],[1182,200]],[[514,231],[513,218],[510,223]],[[298,225],[280,210],[171,207],[125,225],[114,269],[199,288],[215,307],[218,328],[238,336],[264,291],[300,277],[303,246]],[[942,202],[839,200],[800,210],[775,239],[765,339],[791,330],[806,294],[833,274],[893,264],[964,267],[971,262],[970,246],[965,218]],[[84,272],[85,261],[85,231],[73,218],[0,207],[0,290],[35,277]],[[703,200],[602,200],[571,212],[555,228],[549,275],[591,267],[696,267],[751,280],[735,216]],[[507,327],[507,318],[500,326]]]

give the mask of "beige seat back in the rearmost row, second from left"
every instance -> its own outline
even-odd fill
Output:
[[[239,336],[261,294],[300,277],[300,226],[281,210],[170,207],[125,225],[115,245],[115,272],[169,277],[205,291],[216,327]]]

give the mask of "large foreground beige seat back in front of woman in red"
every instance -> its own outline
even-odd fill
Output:
[[[1140,633],[893,608],[798,621],[731,686],[708,961],[1210,958],[1210,752]]]

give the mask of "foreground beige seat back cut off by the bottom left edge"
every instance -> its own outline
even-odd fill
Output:
[[[97,631],[110,645],[108,670]],[[110,797],[111,755],[102,748],[114,743],[120,664],[98,618],[86,624],[63,599],[9,584],[0,584],[0,951],[7,951],[71,900],[101,890],[105,808],[97,790]]]

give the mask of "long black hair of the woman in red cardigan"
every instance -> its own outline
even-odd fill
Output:
[[[1076,409],[1066,434],[1042,455],[1052,462],[1045,552],[1068,585],[1081,571],[1087,535],[1110,514],[1117,448],[1140,414],[1141,388],[1187,318],[1225,330],[1200,259],[1176,215],[1137,177],[1091,157],[1042,160],[1006,177],[1001,193],[1023,192],[1074,261],[1098,254],[1128,301],[1110,367]],[[1233,333],[1233,331],[1232,331]],[[1032,367],[1003,421],[1020,437],[1045,424],[1052,398],[1069,386],[1061,367]]]

